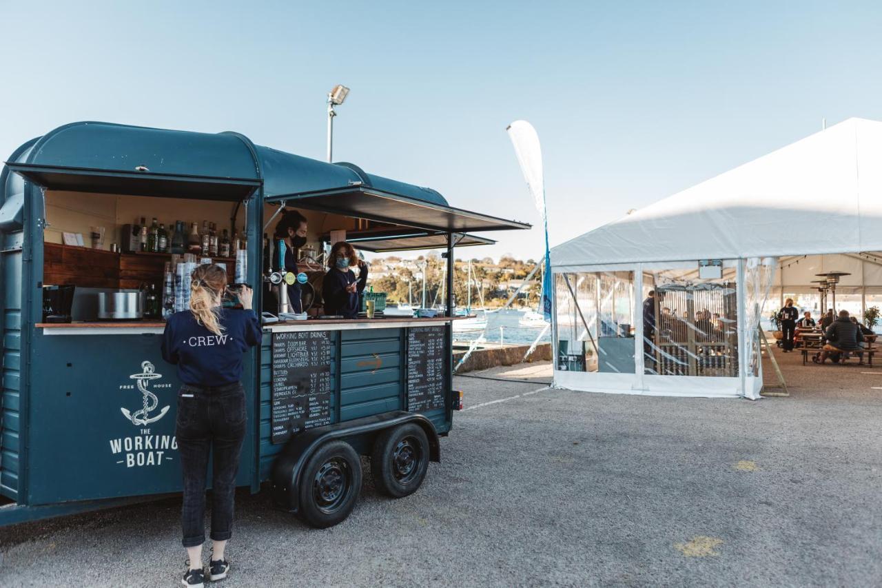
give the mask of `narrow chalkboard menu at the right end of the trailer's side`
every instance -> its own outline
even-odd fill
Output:
[[[407,329],[407,411],[444,408],[445,327]]]

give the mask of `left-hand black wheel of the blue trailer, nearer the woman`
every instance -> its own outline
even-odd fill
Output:
[[[346,441],[328,441],[312,454],[300,481],[303,522],[325,529],[342,522],[362,487],[362,462]]]

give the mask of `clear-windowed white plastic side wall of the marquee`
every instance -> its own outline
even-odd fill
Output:
[[[759,398],[759,319],[774,258],[556,271],[555,384],[649,396]]]

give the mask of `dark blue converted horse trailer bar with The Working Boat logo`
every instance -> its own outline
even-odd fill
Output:
[[[101,293],[156,283],[171,255],[109,243],[122,243],[116,231],[138,217],[242,230],[245,253],[215,261],[254,287],[259,313],[265,225],[286,206],[308,218],[310,243],[345,230],[365,250],[440,247],[448,260],[455,245],[492,242],[469,231],[529,228],[233,132],[75,123],[26,142],[0,175],[0,494],[8,501],[0,524],[180,492],[181,382],[161,359],[164,323],[99,320],[93,308]],[[95,233],[93,248],[72,245],[83,233]],[[249,426],[238,486],[258,492],[269,482],[280,507],[313,526],[348,516],[359,455],[371,456],[385,494],[415,491],[440,459],[437,438],[459,403],[447,265],[447,316],[265,323],[263,344],[244,359]],[[320,280],[323,269],[307,267],[310,281]],[[44,286],[70,285],[72,320],[46,320]]]

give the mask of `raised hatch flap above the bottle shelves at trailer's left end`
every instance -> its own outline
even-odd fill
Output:
[[[150,171],[91,170],[65,168],[36,163],[6,162],[6,166],[50,190],[68,192],[101,192],[191,198],[197,200],[247,200],[260,186],[259,179],[239,177],[186,176],[159,174]]]

